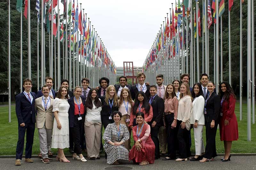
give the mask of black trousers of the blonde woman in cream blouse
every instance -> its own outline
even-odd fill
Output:
[[[178,140],[179,140],[179,154],[181,159],[185,159],[191,156],[190,147],[189,147],[189,130],[185,127],[181,129],[181,122],[177,121],[177,125],[179,125],[178,129]]]

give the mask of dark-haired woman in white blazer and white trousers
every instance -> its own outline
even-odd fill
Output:
[[[190,124],[193,124],[196,155],[190,161],[198,161],[201,159],[201,155],[204,154],[204,93],[200,83],[195,83],[192,91],[193,100],[193,112],[190,116]]]

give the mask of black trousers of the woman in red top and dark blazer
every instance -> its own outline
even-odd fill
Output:
[[[84,136],[83,129],[84,129],[84,114],[81,115],[82,120],[78,120],[79,115],[75,115],[74,118],[74,127],[71,128],[72,131],[72,137],[74,141],[74,153],[77,155],[82,153],[81,147],[80,147],[80,141],[81,137]]]

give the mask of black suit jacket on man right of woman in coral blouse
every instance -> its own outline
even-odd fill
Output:
[[[150,98],[151,96],[148,98],[148,101],[150,100]],[[157,125],[160,126],[164,117],[164,99],[156,95],[156,97],[151,103],[151,106],[153,108],[153,118],[150,124],[153,121],[156,121]]]

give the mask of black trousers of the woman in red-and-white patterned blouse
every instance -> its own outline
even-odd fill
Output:
[[[167,150],[168,150],[168,157],[171,159],[176,159],[176,149],[175,144],[177,140],[177,126],[172,129],[172,122],[174,120],[174,114],[164,115],[165,120],[165,128],[167,131]]]

